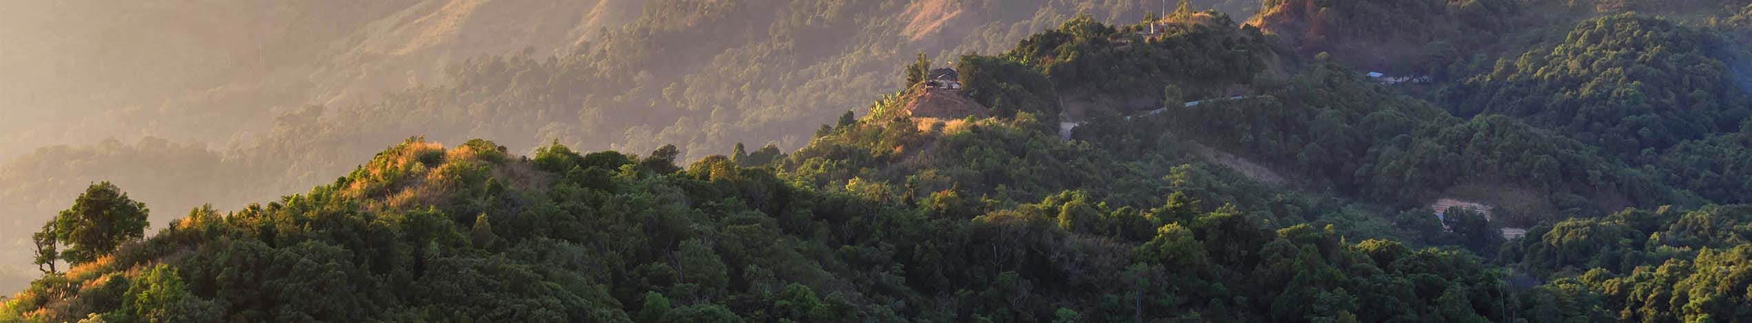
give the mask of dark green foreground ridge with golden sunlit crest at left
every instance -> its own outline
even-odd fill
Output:
[[[827,138],[876,127],[851,122]],[[958,136],[979,133],[986,131]],[[0,314],[32,321],[1505,314],[1496,271],[1465,251],[1349,243],[1332,225],[1270,223],[1186,194],[1169,194],[1156,208],[1111,210],[1077,190],[1032,201],[857,178],[844,189],[816,189],[724,155],[685,169],[673,157],[673,148],[580,155],[559,145],[513,157],[492,141],[445,148],[408,140],[308,194],[233,213],[194,210],[103,257],[63,253],[72,262],[67,272],[39,279]],[[126,199],[103,192],[112,190],[93,187],[82,201]],[[91,246],[70,243],[65,251],[72,250]]]

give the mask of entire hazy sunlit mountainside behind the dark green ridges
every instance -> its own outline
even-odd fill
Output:
[[[380,150],[384,141],[410,134],[445,141],[496,138],[524,152],[554,140],[582,148],[627,150],[675,143],[683,161],[738,141],[799,148],[816,124],[895,87],[899,66],[922,51],[939,58],[997,52],[1076,12],[1091,12],[1097,21],[1134,23],[1156,5],[1137,0],[820,5],[806,0],[410,0],[215,3],[189,9],[193,12],[168,2],[25,5],[47,16],[128,17],[102,24],[107,28],[68,28],[68,35],[102,35],[84,37],[93,42],[86,45],[147,42],[154,51],[142,49],[140,56],[116,61],[117,66],[63,68],[79,73],[56,79],[98,79],[103,82],[88,84],[140,93],[102,91],[119,98],[95,98],[72,108],[79,113],[21,113],[0,120],[0,126],[32,120],[0,129],[18,133],[0,141],[35,143],[14,148],[0,143],[0,157],[18,155],[0,162],[0,183],[5,183],[0,210],[16,215],[9,218],[12,229],[0,230],[0,237],[26,244],[25,229],[53,215],[65,196],[91,182],[151,190],[137,197],[166,208],[235,206],[326,183]],[[347,16],[321,14],[326,10]],[[259,16],[173,19],[194,12]],[[25,24],[19,30],[56,30],[79,21],[11,23]],[[196,26],[224,37],[203,40],[212,42],[205,47],[177,45],[186,44],[182,38]],[[252,37],[266,44],[223,42]],[[81,44],[58,45],[63,47],[49,49],[89,52]],[[35,51],[25,47],[16,54],[33,58]],[[77,59],[56,65],[77,65]],[[175,70],[200,73],[172,73]],[[54,77],[42,73],[39,77]],[[124,86],[133,82],[151,86]],[[49,89],[53,84],[35,86],[42,89],[19,89],[42,98],[74,96]],[[194,94],[177,93],[177,86]],[[102,112],[110,103],[138,107]],[[100,141],[105,136],[121,140]],[[65,145],[33,150],[47,143]],[[177,148],[156,148],[161,145]],[[200,166],[166,164],[173,161]],[[161,215],[152,222],[170,218]]]

